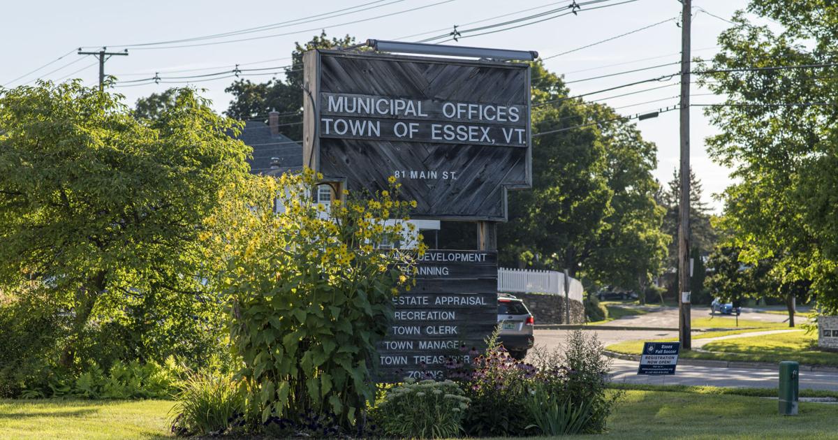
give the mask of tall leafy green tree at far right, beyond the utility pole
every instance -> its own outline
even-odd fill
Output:
[[[834,68],[751,69],[831,63],[838,6],[753,0],[748,11],[778,26],[757,26],[737,13],[707,66],[728,71],[702,76],[727,95],[727,105],[706,110],[719,128],[708,152],[737,179],[724,194],[723,225],[741,248],[740,261],[772,261],[779,282],[811,282],[824,311],[838,313],[838,131],[830,123],[835,106],[817,104],[838,95]]]

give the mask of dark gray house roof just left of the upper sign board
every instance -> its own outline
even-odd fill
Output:
[[[247,160],[251,173],[274,174],[303,168],[303,146],[282,134],[271,134],[271,127],[265,122],[246,122],[239,139],[253,148],[253,158]],[[271,169],[271,158],[279,158],[279,169]]]

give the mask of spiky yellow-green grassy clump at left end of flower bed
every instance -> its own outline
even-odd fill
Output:
[[[245,396],[231,375],[191,375],[174,399],[172,432],[179,435],[225,432],[245,416]]]

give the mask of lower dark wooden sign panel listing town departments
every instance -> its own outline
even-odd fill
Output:
[[[468,370],[498,322],[498,254],[430,250],[410,292],[393,298],[395,319],[378,344],[380,381],[446,379]]]

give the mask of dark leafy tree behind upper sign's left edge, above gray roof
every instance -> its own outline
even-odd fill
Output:
[[[303,116],[303,54],[311,49],[334,49],[354,44],[349,35],[329,39],[323,32],[306,44],[296,44],[291,54],[291,66],[285,70],[285,80],[273,78],[265,83],[251,80],[237,80],[225,89],[233,95],[227,108],[227,116],[240,120],[266,120],[270,111],[278,111],[281,124],[299,122]],[[292,139],[303,138],[303,126],[280,127],[280,132]]]

